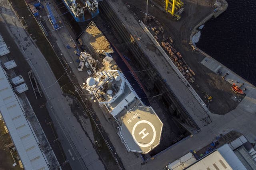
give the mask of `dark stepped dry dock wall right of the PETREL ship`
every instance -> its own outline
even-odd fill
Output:
[[[191,133],[195,133],[199,127],[194,120],[187,113],[186,109],[177,100],[176,96],[170,90],[165,80],[163,80],[158,73],[158,70],[154,68],[154,65],[147,59],[147,56],[140,50],[137,43],[134,42],[134,37],[126,30],[126,27],[120,21],[116,13],[112,10],[107,1],[100,2],[100,10],[106,21],[111,25],[112,32],[118,39],[120,44],[123,44],[124,48],[131,54],[129,57],[132,59],[134,67],[137,70],[144,70],[142,73],[138,73],[138,77],[144,87],[148,90],[150,96],[162,94],[159,97],[166,109],[176,117],[176,120],[188,129]],[[150,69],[149,69],[150,68]]]

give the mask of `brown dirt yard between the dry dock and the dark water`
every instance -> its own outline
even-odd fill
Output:
[[[146,1],[130,0],[124,1],[130,5],[130,11],[136,18],[142,20],[146,11]],[[232,97],[243,99],[244,96],[235,94],[231,91],[231,85],[220,76],[203,66],[200,62],[204,55],[200,52],[193,52],[189,45],[191,29],[214,10],[214,0],[184,0],[184,12],[181,19],[176,21],[170,14],[164,12],[164,0],[150,1],[148,4],[148,14],[156,17],[160,21],[165,32],[162,35],[171,36],[174,40],[174,48],[182,54],[186,63],[196,73],[196,81],[191,83],[194,90],[205,101],[212,113],[224,115],[234,109],[239,102],[234,102]],[[218,19],[218,18],[217,18]],[[153,23],[154,24],[154,23]],[[158,42],[161,43],[162,35]],[[150,47],[149,47],[150,48]],[[213,100],[208,103],[204,93],[212,96]]]

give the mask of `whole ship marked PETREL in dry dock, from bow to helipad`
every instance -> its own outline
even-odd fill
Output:
[[[99,104],[117,127],[116,132],[128,151],[144,155],[152,152],[163,142],[164,123],[143,102],[142,88],[129,71],[121,70],[116,63],[120,56],[93,21],[84,32],[77,41],[82,49],[78,71],[88,73],[86,83],[80,84],[88,96],[85,100]]]

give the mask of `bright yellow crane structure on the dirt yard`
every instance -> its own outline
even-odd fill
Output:
[[[170,6],[170,9],[169,8]],[[176,20],[180,20],[180,15],[176,14],[178,10],[180,10],[184,6],[184,3],[181,0],[165,0],[165,10],[169,12],[172,16],[176,18]]]

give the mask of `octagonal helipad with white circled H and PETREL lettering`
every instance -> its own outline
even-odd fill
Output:
[[[129,151],[146,154],[159,145],[162,127],[152,107],[134,106],[122,117],[120,135]]]

